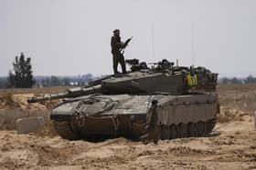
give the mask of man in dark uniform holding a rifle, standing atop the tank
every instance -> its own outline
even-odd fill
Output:
[[[111,45],[112,45],[112,63],[113,63],[113,73],[116,75],[118,63],[122,66],[123,74],[126,74],[126,67],[124,62],[124,56],[122,50],[128,45],[132,38],[126,40],[125,43],[121,41],[120,30],[113,30]]]

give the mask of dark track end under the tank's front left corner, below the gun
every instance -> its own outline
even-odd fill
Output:
[[[72,128],[72,125],[69,121],[54,121],[53,126],[57,133],[64,139],[68,140],[78,140],[80,139],[80,134]]]

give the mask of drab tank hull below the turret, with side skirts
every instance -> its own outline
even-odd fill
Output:
[[[95,95],[89,98],[91,96],[65,102],[52,111],[51,119],[59,135],[67,139],[92,136],[138,139],[145,134],[146,113],[153,99],[158,100],[157,128],[161,139],[207,135],[219,112],[218,96],[212,94]]]

